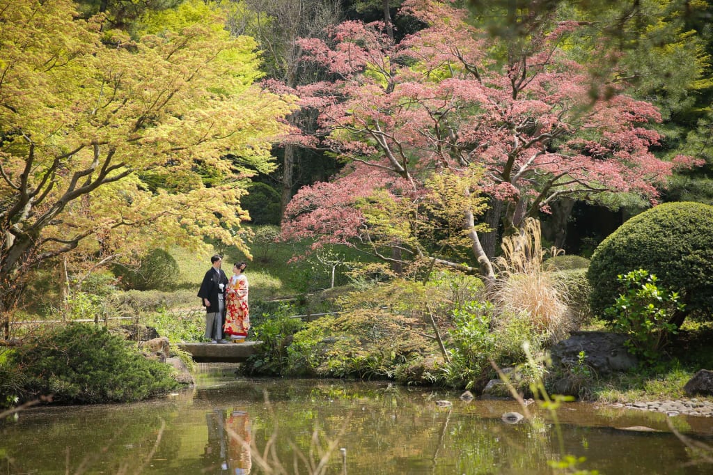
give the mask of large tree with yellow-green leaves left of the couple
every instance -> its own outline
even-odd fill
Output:
[[[274,168],[270,137],[292,110],[253,85],[252,39],[198,0],[146,14],[139,39],[77,18],[70,0],[2,0],[0,24],[6,284],[82,248],[243,247],[245,179]]]

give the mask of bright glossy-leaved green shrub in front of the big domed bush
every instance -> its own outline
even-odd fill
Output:
[[[627,334],[629,340],[625,344],[630,352],[653,364],[660,359],[669,335],[677,332],[669,320],[675,311],[683,310],[683,304],[677,292],[659,289],[656,276],[645,270],[632,270],[617,280],[624,292],[605,310],[605,315],[615,330]]]

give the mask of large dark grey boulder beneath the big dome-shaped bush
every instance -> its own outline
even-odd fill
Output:
[[[550,349],[553,369],[577,366],[580,352],[585,354],[584,363],[600,376],[635,368],[638,361],[627,351],[626,341],[626,335],[618,333],[572,332]]]

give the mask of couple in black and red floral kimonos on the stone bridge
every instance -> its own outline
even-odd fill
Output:
[[[222,271],[222,257],[210,258],[212,267],[205,272],[198,297],[205,307],[205,337],[212,343],[227,343],[223,335],[230,335],[235,343],[242,343],[250,330],[250,312],[247,307],[247,277],[245,262],[232,266],[233,275],[227,278]]]

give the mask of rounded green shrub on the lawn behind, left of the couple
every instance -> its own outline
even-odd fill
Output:
[[[115,264],[112,271],[121,277],[125,289],[168,290],[178,278],[178,263],[163,249],[152,249],[143,256],[138,267]]]

